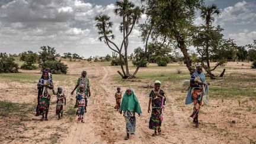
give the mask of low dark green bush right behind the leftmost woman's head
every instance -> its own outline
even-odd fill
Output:
[[[46,68],[50,68],[51,73],[53,74],[66,74],[68,71],[68,66],[65,65],[63,62],[59,61],[47,61],[41,65],[41,70],[43,71]]]

